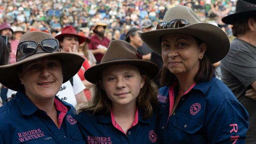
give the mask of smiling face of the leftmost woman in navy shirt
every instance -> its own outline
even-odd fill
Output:
[[[19,78],[32,101],[54,98],[63,82],[61,62],[58,58],[46,57],[24,64]]]

